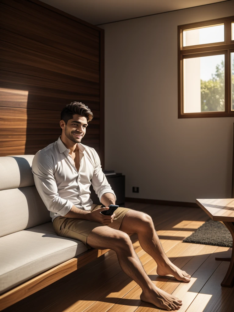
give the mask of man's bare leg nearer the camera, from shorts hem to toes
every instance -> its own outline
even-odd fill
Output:
[[[124,273],[142,288],[140,298],[143,301],[153,303],[168,311],[178,310],[182,305],[181,300],[159,289],[150,280],[126,233],[108,226],[95,227],[87,237],[87,244],[96,249],[113,249],[116,252],[119,265]]]

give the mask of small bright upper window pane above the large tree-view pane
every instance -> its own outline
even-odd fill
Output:
[[[183,46],[224,41],[224,24],[183,31]]]

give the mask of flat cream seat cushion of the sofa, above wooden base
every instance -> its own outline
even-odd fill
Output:
[[[56,235],[52,222],[0,237],[0,294],[67,261],[86,246]]]

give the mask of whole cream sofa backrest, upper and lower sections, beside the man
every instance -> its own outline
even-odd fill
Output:
[[[33,157],[0,157],[0,237],[51,221],[34,184]]]

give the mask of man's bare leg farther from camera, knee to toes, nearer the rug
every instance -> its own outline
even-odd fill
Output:
[[[166,256],[155,231],[152,218],[148,214],[133,209],[129,210],[124,216],[119,230],[125,233],[138,234],[142,249],[157,262],[158,275],[171,274],[177,280],[190,281],[191,275],[180,270]]]

